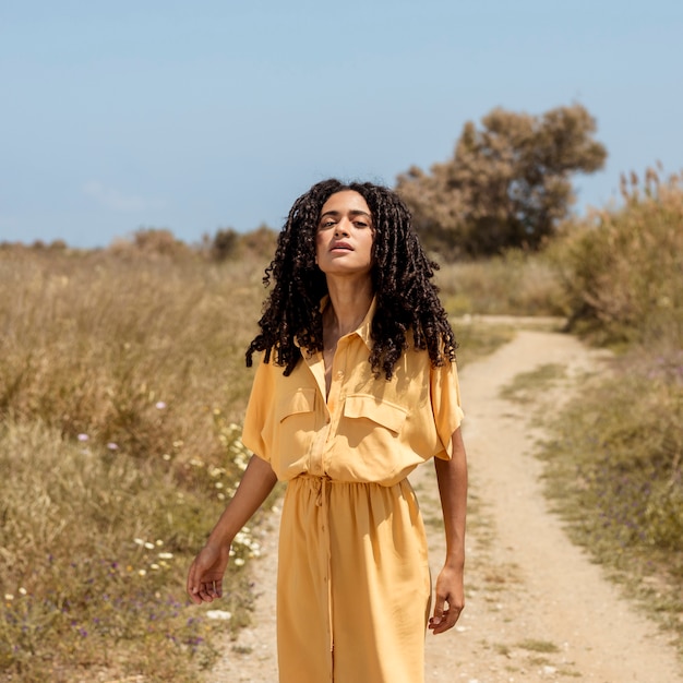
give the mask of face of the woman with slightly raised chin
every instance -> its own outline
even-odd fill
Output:
[[[329,276],[369,275],[374,226],[362,194],[343,190],[323,204],[317,220],[315,261]]]

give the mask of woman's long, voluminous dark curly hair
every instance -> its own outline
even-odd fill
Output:
[[[324,203],[345,190],[361,194],[372,214],[371,277],[378,304],[369,362],[375,376],[384,373],[392,379],[396,362],[409,346],[408,331],[414,348],[427,349],[432,366],[455,362],[455,336],[432,283],[439,266],[424,254],[406,205],[387,188],[329,179],[314,184],[293,203],[279,233],[263,278],[266,287],[271,280],[274,287],[259,321],[261,333],[247,350],[247,366],[251,367],[255,351],[265,351],[265,362],[274,351],[275,363],[284,366],[288,375],[301,359],[301,349],[309,354],[323,350],[320,301],[327,293],[327,284],[315,263],[315,236]]]

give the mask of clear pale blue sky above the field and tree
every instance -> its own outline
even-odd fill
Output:
[[[0,241],[279,228],[329,176],[393,185],[493,107],[580,103],[622,171],[683,168],[683,2],[0,0]]]

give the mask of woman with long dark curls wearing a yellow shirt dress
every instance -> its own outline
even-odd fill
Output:
[[[263,352],[242,440],[255,454],[188,592],[221,595],[231,540],[288,482],[277,577],[281,683],[419,683],[424,628],[464,607],[467,465],[455,338],[410,215],[371,183],[297,200],[247,352]],[[446,534],[431,618],[424,528],[406,479],[434,457]]]

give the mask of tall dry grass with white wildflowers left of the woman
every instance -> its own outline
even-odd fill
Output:
[[[232,423],[262,269],[0,251],[0,680],[196,681],[248,619],[249,532],[230,620],[182,583],[249,455]]]

